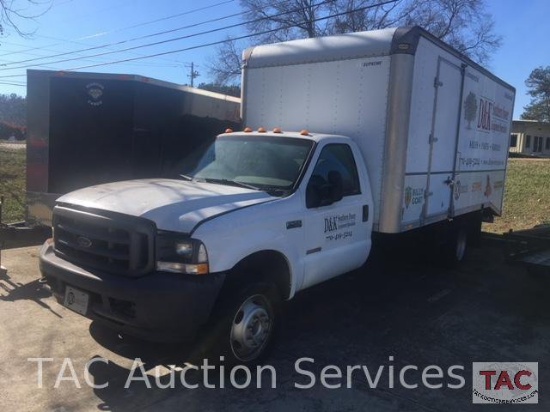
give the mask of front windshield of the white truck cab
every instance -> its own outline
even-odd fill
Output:
[[[298,180],[312,146],[307,139],[224,136],[189,156],[180,173],[187,179],[286,192]]]

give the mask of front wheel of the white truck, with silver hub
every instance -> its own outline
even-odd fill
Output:
[[[280,324],[275,285],[255,283],[222,300],[216,316],[217,350],[229,364],[255,364],[268,353]]]

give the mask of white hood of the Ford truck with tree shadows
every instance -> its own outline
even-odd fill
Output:
[[[274,199],[265,192],[234,186],[142,179],[87,187],[57,201],[140,216],[155,222],[158,229],[190,233],[203,220]]]

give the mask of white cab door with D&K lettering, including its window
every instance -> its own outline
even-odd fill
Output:
[[[370,250],[369,205],[361,194],[355,158],[348,144],[331,143],[322,148],[307,184],[305,208],[302,288],[364,263]]]

